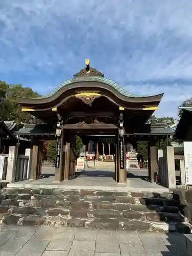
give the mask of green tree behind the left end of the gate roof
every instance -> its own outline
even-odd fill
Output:
[[[16,103],[16,96],[34,98],[40,96],[29,87],[22,84],[7,84],[0,81],[0,117],[4,120],[16,120],[19,122],[35,122],[35,118],[29,113],[22,112]]]

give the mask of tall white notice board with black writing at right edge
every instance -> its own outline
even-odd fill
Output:
[[[185,141],[184,158],[185,158],[185,179],[187,185],[192,185],[192,142]]]

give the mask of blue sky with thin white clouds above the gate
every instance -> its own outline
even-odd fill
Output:
[[[177,118],[192,96],[191,0],[1,0],[0,80],[42,95],[85,66],[130,93],[164,93]]]

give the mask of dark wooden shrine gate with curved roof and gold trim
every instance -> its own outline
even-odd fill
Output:
[[[75,134],[113,135],[114,148],[114,179],[118,183],[126,183],[125,147],[127,136],[129,140],[148,141],[147,147],[153,147],[157,136],[161,136],[161,127],[156,132],[147,123],[154,111],[158,109],[163,94],[140,97],[126,92],[111,79],[105,78],[98,70],[90,67],[81,69],[72,79],[60,84],[49,95],[40,98],[16,97],[22,111],[31,112],[33,116],[43,121],[35,125],[25,137],[32,140],[38,147],[39,136],[57,138],[57,154],[55,163],[55,181],[75,178],[76,155],[74,152]],[[164,130],[164,126],[163,126]],[[28,130],[29,131],[29,130]],[[20,133],[22,134],[22,133]],[[162,132],[166,135],[166,132]],[[98,152],[100,149],[98,148]],[[106,151],[103,148],[102,151]],[[88,150],[89,152],[89,150]],[[150,150],[148,151],[150,152]],[[155,161],[152,150],[151,163]],[[34,154],[37,160],[37,153]],[[35,160],[35,161],[36,161]],[[153,173],[156,165],[150,165],[150,181],[154,182]],[[35,172],[35,165],[33,172]],[[36,177],[36,176],[34,176]]]

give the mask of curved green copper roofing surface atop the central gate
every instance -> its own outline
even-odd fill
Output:
[[[119,86],[118,83],[114,82],[113,80],[111,80],[109,78],[104,78],[104,77],[99,77],[99,76],[88,76],[88,77],[78,77],[78,78],[72,78],[72,79],[66,80],[66,81],[60,83],[59,86],[54,91],[52,91],[51,93],[48,93],[45,96],[42,96],[41,98],[48,98],[48,97],[54,95],[56,92],[58,92],[62,87],[68,86],[68,84],[70,84],[70,83],[75,83],[75,82],[79,82],[79,81],[97,81],[97,82],[106,83],[106,84],[109,84],[111,87],[115,88],[119,93],[121,93],[124,96],[135,97],[135,98],[141,97],[141,96],[127,92],[123,87]]]

